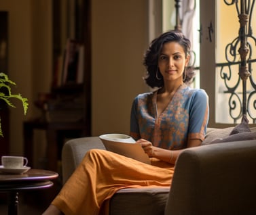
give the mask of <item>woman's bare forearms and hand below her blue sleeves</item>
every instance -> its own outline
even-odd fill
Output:
[[[179,154],[184,149],[179,150],[169,150],[162,149],[160,147],[153,146],[151,142],[145,139],[139,139],[136,143],[140,143],[141,147],[143,147],[145,153],[149,156],[149,158],[158,158],[164,162],[168,162],[170,164],[175,164]],[[196,147],[201,145],[202,141],[200,139],[190,139],[187,143],[187,147]]]

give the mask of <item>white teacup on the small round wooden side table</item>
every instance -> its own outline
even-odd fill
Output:
[[[22,156],[2,156],[1,162],[4,168],[22,168],[28,164],[28,159]]]

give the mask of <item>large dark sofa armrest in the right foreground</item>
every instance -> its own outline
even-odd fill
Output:
[[[256,140],[185,149],[165,214],[256,214]]]

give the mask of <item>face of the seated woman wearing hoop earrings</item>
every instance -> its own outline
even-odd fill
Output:
[[[181,80],[183,82],[183,71],[189,63],[189,57],[189,55],[186,57],[179,43],[165,43],[158,58],[158,68],[164,81]]]

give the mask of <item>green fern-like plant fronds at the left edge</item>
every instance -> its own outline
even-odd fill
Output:
[[[26,114],[26,111],[28,110],[29,103],[28,99],[22,97],[20,93],[18,94],[12,94],[11,86],[16,86],[16,83],[10,80],[7,76],[7,74],[0,72],[0,100],[5,101],[7,105],[10,107],[16,107],[11,100],[18,99],[22,102],[24,114]],[[0,136],[3,137],[3,131],[1,129],[1,118],[0,118]]]

